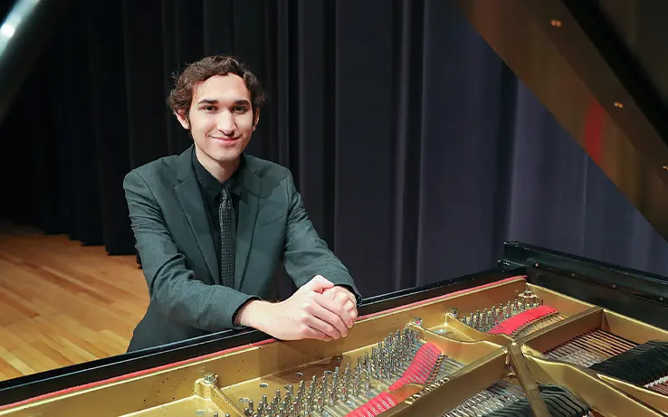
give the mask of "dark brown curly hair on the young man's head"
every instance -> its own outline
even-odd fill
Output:
[[[231,55],[212,55],[190,63],[181,73],[174,75],[176,85],[169,92],[167,104],[176,113],[184,112],[186,118],[193,101],[193,90],[199,82],[204,82],[215,75],[236,74],[243,79],[251,92],[253,114],[262,108],[266,98],[257,77],[243,62]]]

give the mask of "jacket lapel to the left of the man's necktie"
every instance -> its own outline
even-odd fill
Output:
[[[209,267],[214,281],[220,283],[220,271],[218,270],[218,261],[215,258],[214,239],[211,235],[211,228],[207,220],[204,200],[199,191],[197,177],[193,171],[192,153],[193,147],[191,146],[179,156],[177,176],[179,184],[176,186],[175,191],[181,208],[186,214],[188,223],[190,223],[190,227],[193,230],[193,234],[195,234],[206,266]]]

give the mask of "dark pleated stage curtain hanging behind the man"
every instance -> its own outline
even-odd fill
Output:
[[[493,268],[504,240],[668,275],[668,246],[446,0],[74,0],[2,126],[5,218],[134,253],[121,181],[190,139],[170,75],[233,53],[364,296]]]

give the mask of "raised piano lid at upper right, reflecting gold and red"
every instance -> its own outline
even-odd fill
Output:
[[[456,3],[668,240],[668,2]]]

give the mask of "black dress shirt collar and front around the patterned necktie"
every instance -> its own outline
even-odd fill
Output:
[[[205,202],[206,216],[208,217],[209,226],[211,229],[211,236],[214,238],[215,254],[218,260],[218,270],[220,270],[220,222],[218,221],[218,204],[220,202],[220,192],[223,187],[228,187],[232,192],[232,204],[234,207],[234,224],[238,228],[239,223],[239,196],[241,195],[241,184],[239,183],[239,172],[243,169],[243,157],[239,168],[234,171],[234,174],[221,184],[215,179],[214,175],[206,170],[204,166],[197,159],[196,153],[193,152],[193,168],[197,175],[197,182],[199,183],[199,190],[202,193],[202,199]]]

